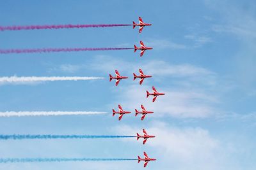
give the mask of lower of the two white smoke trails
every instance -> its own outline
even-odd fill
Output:
[[[29,117],[29,116],[61,116],[61,115],[99,115],[107,112],[100,111],[6,111],[0,112],[0,117]]]

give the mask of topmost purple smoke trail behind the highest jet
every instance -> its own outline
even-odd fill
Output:
[[[17,31],[17,30],[33,30],[33,29],[72,29],[72,28],[89,28],[89,27],[123,27],[132,24],[67,24],[67,25],[13,25],[13,26],[0,26],[0,31]]]

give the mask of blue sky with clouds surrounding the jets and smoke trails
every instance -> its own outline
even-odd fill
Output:
[[[152,23],[132,27],[0,32],[1,48],[132,47],[154,50],[0,56],[0,76],[104,76],[106,80],[1,84],[0,111],[108,111],[106,115],[0,118],[1,134],[133,135],[156,139],[0,141],[0,157],[124,157],[146,151],[150,169],[255,169],[255,1],[1,1],[1,25]],[[132,73],[153,78],[140,86]],[[128,80],[115,87],[108,74]],[[146,99],[152,85],[165,92]],[[111,109],[144,104],[141,122]],[[131,162],[0,164],[0,169],[143,169]]]

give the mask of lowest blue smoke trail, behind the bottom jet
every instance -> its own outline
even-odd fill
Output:
[[[71,161],[121,161],[121,160],[138,160],[138,159],[102,159],[102,158],[6,158],[0,159],[0,163],[17,163],[17,162],[71,162]]]

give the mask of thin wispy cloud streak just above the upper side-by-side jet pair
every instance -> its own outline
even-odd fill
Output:
[[[120,66],[122,63],[122,66]],[[161,76],[174,76],[174,77],[184,77],[184,76],[216,76],[216,73],[205,69],[204,67],[194,66],[191,64],[170,64],[163,60],[151,60],[141,67],[140,63],[127,62],[122,59],[115,59],[106,55],[98,55],[92,62],[91,66],[93,69],[100,71],[113,71],[115,69],[120,69],[120,71],[125,71],[129,74],[131,72],[138,72],[138,68],[143,69],[147,74],[153,74],[157,77]]]

